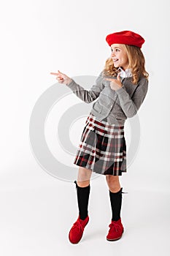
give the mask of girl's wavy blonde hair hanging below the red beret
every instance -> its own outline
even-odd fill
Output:
[[[123,45],[126,50],[129,62],[129,68],[132,73],[132,83],[136,84],[139,81],[140,76],[144,76],[144,78],[149,77],[148,72],[145,70],[145,59],[142,53],[142,50],[134,45]],[[105,62],[103,75],[112,75],[114,77],[117,76],[118,68],[114,66],[112,58],[107,59]]]

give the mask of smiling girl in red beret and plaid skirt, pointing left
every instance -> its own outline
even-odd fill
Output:
[[[115,241],[123,235],[120,218],[123,188],[120,187],[119,176],[126,172],[124,123],[126,118],[136,115],[147,94],[148,73],[141,50],[144,39],[132,31],[120,31],[108,34],[106,40],[111,56],[89,91],[59,70],[51,73],[84,102],[90,103],[98,98],[85,122],[74,159],[74,164],[79,166],[77,181],[74,181],[79,216],[69,231],[72,244],[80,241],[88,224],[92,171],[105,175],[109,187],[112,220],[107,240]]]

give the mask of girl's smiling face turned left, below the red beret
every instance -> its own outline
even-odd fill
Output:
[[[111,58],[115,67],[122,67],[124,70],[128,69],[128,56],[125,48],[121,44],[111,45]]]

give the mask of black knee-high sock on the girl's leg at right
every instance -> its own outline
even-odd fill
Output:
[[[120,191],[113,193],[109,190],[110,203],[112,206],[112,220],[117,221],[120,219],[120,211],[122,206],[122,189]]]

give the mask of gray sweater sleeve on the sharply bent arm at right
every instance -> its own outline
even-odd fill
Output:
[[[128,92],[125,91],[123,87],[116,90],[120,100],[120,107],[123,109],[125,116],[130,118],[136,115],[147,94],[147,89],[148,80],[144,78],[139,82],[139,86],[136,88],[132,97],[129,96]]]

